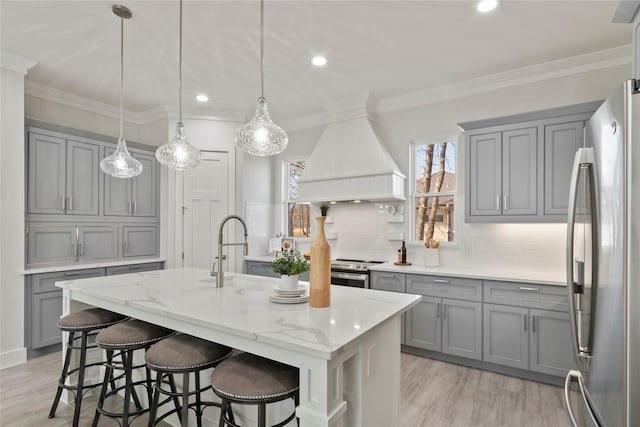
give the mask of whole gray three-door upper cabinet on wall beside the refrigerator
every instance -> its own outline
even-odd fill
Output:
[[[599,105],[461,123],[468,153],[465,222],[566,222],[573,158]]]

